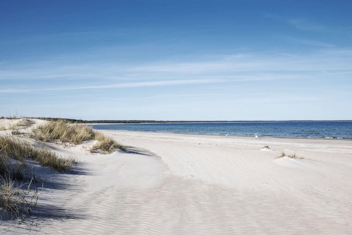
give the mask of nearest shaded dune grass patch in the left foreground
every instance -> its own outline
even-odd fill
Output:
[[[63,159],[48,148],[34,148],[18,137],[0,136],[0,208],[12,218],[30,215],[38,200],[37,163],[62,172],[70,169],[74,162],[73,157]],[[29,183],[18,185],[19,181]]]

